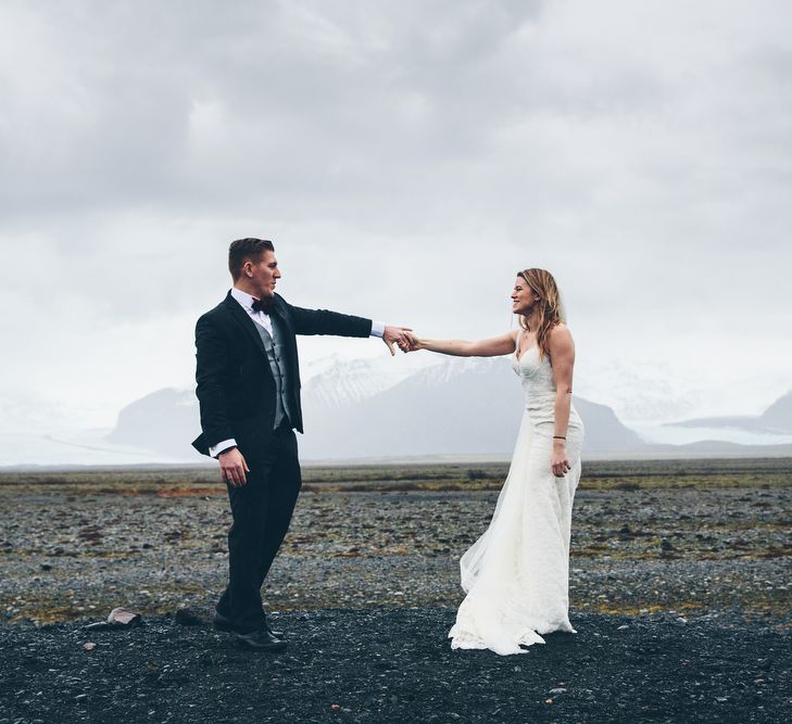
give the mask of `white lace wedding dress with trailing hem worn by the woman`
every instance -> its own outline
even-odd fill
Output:
[[[525,653],[520,644],[543,644],[540,634],[576,633],[568,614],[569,534],[583,424],[573,407],[566,435],[571,470],[555,478],[550,360],[533,346],[519,359],[515,353],[512,366],[523,380],[525,412],[492,521],[460,561],[467,596],[449,633],[454,649]]]

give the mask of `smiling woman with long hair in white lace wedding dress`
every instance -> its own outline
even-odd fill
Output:
[[[525,269],[512,292],[519,329],[478,342],[411,336],[404,352],[462,357],[512,355],[525,412],[508,475],[489,528],[460,561],[467,594],[449,633],[454,649],[525,653],[569,623],[569,533],[580,480],[583,424],[571,404],[575,344],[558,288]]]

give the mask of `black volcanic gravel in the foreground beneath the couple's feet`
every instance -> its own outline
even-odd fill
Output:
[[[578,614],[525,655],[451,651],[450,609],[284,613],[237,649],[161,617],[130,631],[0,628],[0,722],[782,722],[792,639],[766,626]],[[620,628],[620,626],[627,626]],[[86,650],[86,644],[95,644]]]

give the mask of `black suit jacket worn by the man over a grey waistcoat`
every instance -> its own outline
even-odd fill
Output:
[[[281,322],[289,365],[292,427],[302,432],[297,334],[368,336],[372,320],[326,309],[294,307],[275,294],[269,314]],[[196,325],[196,394],[202,434],[192,446],[203,455],[234,437],[242,455],[263,454],[273,434],[275,379],[255,322],[228,292]]]

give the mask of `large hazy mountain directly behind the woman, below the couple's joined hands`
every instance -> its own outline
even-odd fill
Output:
[[[507,359],[451,359],[419,370],[348,408],[304,401],[305,458],[488,455],[507,458],[524,409]],[[603,406],[576,399],[592,432],[590,452],[629,450],[642,441]]]

